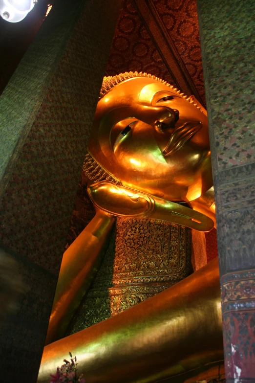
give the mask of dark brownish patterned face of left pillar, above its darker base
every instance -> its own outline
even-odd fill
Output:
[[[98,12],[91,4],[66,46],[0,204],[0,240],[56,275],[117,17],[111,7]],[[99,29],[110,31],[110,25],[102,39]]]

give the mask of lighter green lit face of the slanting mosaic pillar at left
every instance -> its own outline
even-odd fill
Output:
[[[57,23],[54,12],[61,15]],[[63,1],[60,9],[57,6],[52,10],[0,97],[0,195],[10,178],[74,26],[73,12],[67,1]],[[57,38],[50,38],[54,35]]]

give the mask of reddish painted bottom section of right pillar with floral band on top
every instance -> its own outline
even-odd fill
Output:
[[[221,277],[227,382],[255,382],[255,270]]]

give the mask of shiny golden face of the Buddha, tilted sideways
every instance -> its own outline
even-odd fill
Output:
[[[123,186],[168,201],[192,201],[212,186],[206,114],[152,78],[130,78],[106,93],[88,149]]]

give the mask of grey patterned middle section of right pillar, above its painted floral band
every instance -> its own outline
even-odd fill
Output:
[[[255,262],[254,164],[226,169],[224,175],[226,179],[215,186],[221,273],[247,269]]]

